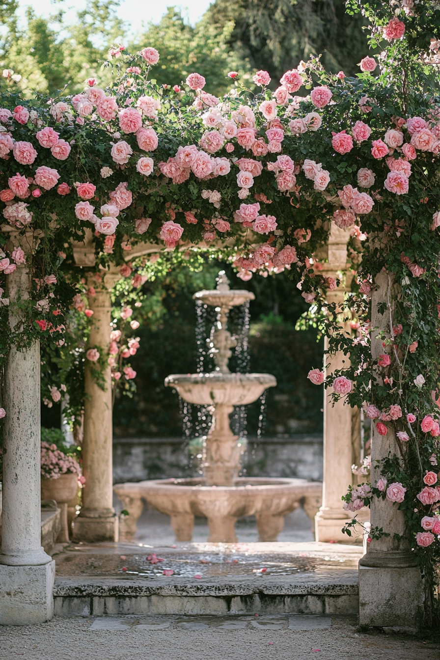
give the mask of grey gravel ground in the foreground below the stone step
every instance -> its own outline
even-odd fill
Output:
[[[230,617],[230,620],[239,617]],[[167,628],[146,630],[133,617],[124,619],[115,630],[94,630],[99,619],[56,617],[40,626],[0,628],[0,660],[437,660],[439,646],[397,635],[356,632],[356,618],[332,617],[331,627],[310,630],[255,627],[247,617],[245,628],[218,628],[212,625],[185,630],[185,621],[194,628],[204,618],[170,618]],[[226,618],[224,617],[223,620]],[[115,621],[116,623],[116,621]],[[261,619],[263,623],[263,618]],[[217,626],[217,627],[216,627]],[[110,626],[111,627],[111,626]],[[276,627],[276,626],[275,626]]]

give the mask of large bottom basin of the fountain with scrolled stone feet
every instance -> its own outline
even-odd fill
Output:
[[[114,491],[129,512],[125,540],[137,531],[142,499],[171,517],[176,541],[191,541],[195,516],[206,517],[210,543],[236,543],[238,518],[255,515],[259,541],[276,541],[284,516],[303,506],[311,525],[321,506],[322,484],[305,479],[239,478],[234,486],[206,486],[205,479],[161,479],[116,484]]]

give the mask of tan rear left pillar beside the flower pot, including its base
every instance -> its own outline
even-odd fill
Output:
[[[95,296],[88,296],[91,318],[90,346],[101,353],[108,353],[110,345],[110,291],[119,272],[103,271],[98,278],[88,277]],[[112,405],[111,370],[106,365],[102,373],[104,388],[92,376],[90,363],[86,361],[84,401],[84,437],[82,440],[82,469],[86,482],[82,488],[82,508],[75,519],[75,541],[117,541],[118,520],[113,509],[113,458],[112,458]]]

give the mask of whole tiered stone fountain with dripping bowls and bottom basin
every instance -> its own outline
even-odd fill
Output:
[[[266,479],[239,477],[244,444],[230,429],[229,415],[234,407],[256,401],[276,380],[270,374],[231,373],[228,361],[236,340],[227,329],[232,307],[253,300],[253,293],[230,289],[223,271],[217,288],[198,291],[193,297],[212,305],[217,320],[210,337],[210,353],[216,368],[208,374],[173,374],[165,384],[173,387],[188,403],[210,407],[212,424],[203,442],[200,479],[161,479],[117,484],[114,488],[130,515],[123,535],[136,531],[142,512],[142,498],[171,516],[176,541],[191,541],[194,517],[208,519],[208,541],[236,543],[237,518],[255,514],[260,541],[276,541],[284,525],[284,515],[302,504],[311,517],[321,506],[322,486],[305,479]]]

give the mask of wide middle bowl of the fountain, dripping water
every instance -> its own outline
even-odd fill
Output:
[[[165,385],[175,387],[179,395],[199,405],[239,406],[253,403],[268,387],[275,387],[271,374],[172,374]]]

